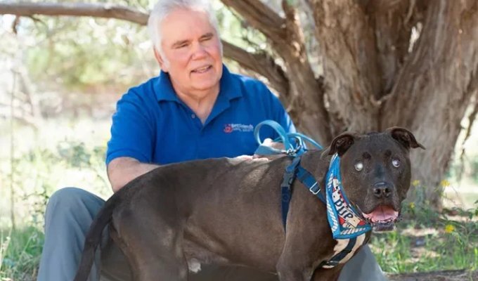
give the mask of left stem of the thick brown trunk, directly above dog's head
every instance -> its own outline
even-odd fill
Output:
[[[335,126],[342,126],[338,131],[376,130],[379,109],[372,101],[380,91],[380,70],[367,14],[354,0],[311,1],[311,5]]]

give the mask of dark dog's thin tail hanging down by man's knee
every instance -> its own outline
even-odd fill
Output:
[[[86,281],[88,279],[91,266],[93,265],[96,248],[101,242],[101,234],[103,233],[105,226],[111,221],[112,212],[116,207],[116,202],[117,197],[113,195],[98,212],[93,223],[91,223],[84,241],[82,261],[79,263],[74,281]]]

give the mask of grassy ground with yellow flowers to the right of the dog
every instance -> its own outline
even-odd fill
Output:
[[[478,209],[477,209],[478,210]],[[478,269],[477,210],[406,208],[406,218],[390,233],[374,234],[370,247],[382,270],[411,273]]]

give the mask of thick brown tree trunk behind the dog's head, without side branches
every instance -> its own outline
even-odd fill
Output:
[[[328,111],[342,129],[411,129],[427,147],[411,154],[413,179],[440,208],[439,182],[477,89],[477,1],[420,1],[418,6],[415,1],[321,0],[309,5],[322,47]],[[413,27],[421,30],[411,48]]]

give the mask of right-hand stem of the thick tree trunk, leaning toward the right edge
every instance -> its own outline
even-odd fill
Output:
[[[383,107],[382,126],[399,124],[419,136],[426,151],[412,155],[413,177],[441,206],[440,181],[478,86],[478,3],[430,1],[422,34]]]

